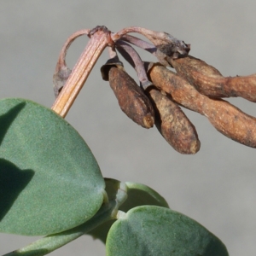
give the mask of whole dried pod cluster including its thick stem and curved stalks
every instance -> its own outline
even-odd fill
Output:
[[[140,33],[150,43],[127,35],[130,32]],[[72,72],[65,61],[67,49],[75,38],[84,34],[89,36],[90,42]],[[143,62],[132,44],[153,54],[160,63]],[[195,126],[178,105],[206,116],[226,137],[256,148],[256,119],[222,99],[240,96],[256,102],[256,73],[246,77],[224,77],[215,67],[189,55],[190,44],[166,32],[138,26],[116,33],[105,26],[96,26],[92,30],[75,32],[67,39],[54,74],[57,98],[52,109],[56,113],[65,117],[106,47],[110,59],[101,68],[102,79],[109,81],[122,111],[144,128],[155,124],[177,152],[195,154],[201,145]],[[125,72],[117,51],[134,67],[141,87]],[[166,67],[174,67],[176,73]]]

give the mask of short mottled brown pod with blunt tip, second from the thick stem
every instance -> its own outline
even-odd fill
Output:
[[[191,124],[182,109],[160,90],[151,87],[147,94],[153,103],[154,124],[172,148],[181,154],[195,154],[200,149],[195,126]]]

